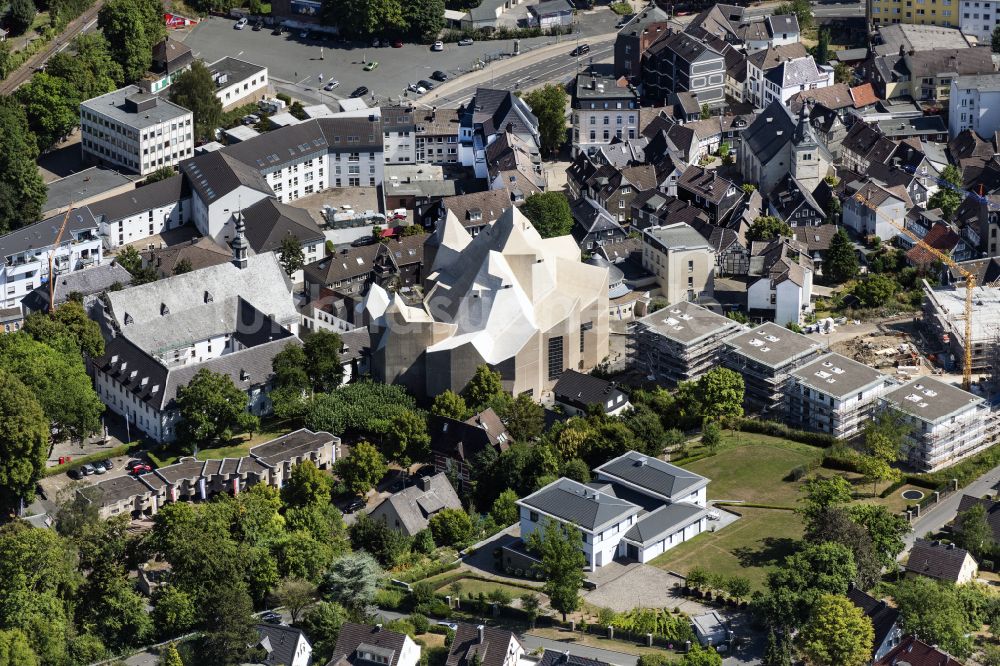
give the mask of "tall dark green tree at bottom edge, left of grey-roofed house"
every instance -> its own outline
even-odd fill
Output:
[[[240,584],[218,585],[205,608],[202,663],[241,664],[251,661],[259,640],[254,628],[253,600]]]

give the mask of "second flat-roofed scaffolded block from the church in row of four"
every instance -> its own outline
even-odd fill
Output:
[[[792,373],[822,353],[825,344],[773,322],[725,341],[723,365],[743,376],[743,403],[754,412],[781,415]]]

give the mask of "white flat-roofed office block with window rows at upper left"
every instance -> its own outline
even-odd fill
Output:
[[[139,86],[82,102],[80,132],[84,160],[140,175],[194,154],[192,113]]]

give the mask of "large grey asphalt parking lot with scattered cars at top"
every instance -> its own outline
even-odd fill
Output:
[[[584,38],[613,31],[616,20],[613,12],[601,7],[581,12],[577,26]],[[196,57],[206,62],[233,56],[266,65],[276,88],[310,101],[342,99],[358,86],[366,86],[380,100],[399,99],[404,93],[412,97],[414,93],[406,93],[406,86],[429,79],[436,70],[446,72],[449,77],[459,76],[470,71],[477,60],[496,58],[514,50],[513,40],[481,41],[471,46],[446,44],[440,53],[423,44],[404,44],[398,49],[372,48],[339,38],[304,39],[298,30],[281,35],[272,35],[267,27],[257,32],[249,27],[234,30],[235,23],[230,19],[208,18],[190,31],[174,33],[173,37],[185,42]],[[576,36],[522,39],[520,50],[525,52],[560,40],[566,42],[568,53],[576,43]],[[366,60],[378,61],[378,68],[373,72],[363,71]],[[324,82],[335,79],[340,86],[332,92],[322,90],[320,74]]]

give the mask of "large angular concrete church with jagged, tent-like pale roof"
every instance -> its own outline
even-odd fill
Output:
[[[475,238],[449,213],[424,266],[423,301],[397,293],[372,313],[378,381],[457,392],[486,364],[505,389],[538,399],[564,370],[608,355],[607,268],[582,263],[572,236],[542,239],[514,207]]]

